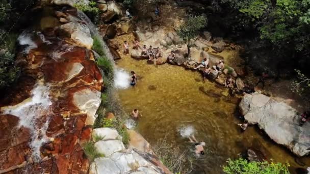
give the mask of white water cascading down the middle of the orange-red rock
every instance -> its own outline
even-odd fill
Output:
[[[23,102],[9,106],[3,110],[5,114],[15,115],[19,118],[19,127],[25,127],[31,131],[30,147],[33,151],[33,159],[40,161],[40,147],[43,142],[47,141],[46,129],[49,121],[45,120],[43,125],[40,121],[44,120],[43,115],[49,113],[51,105],[49,99],[49,86],[43,82],[38,82],[32,90],[32,98]]]

